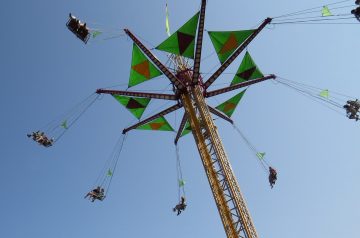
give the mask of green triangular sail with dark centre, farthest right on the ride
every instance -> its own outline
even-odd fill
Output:
[[[246,52],[231,85],[262,77],[264,77],[264,75],[251,58],[249,52]]]

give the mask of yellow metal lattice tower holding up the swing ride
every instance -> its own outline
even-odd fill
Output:
[[[178,59],[178,69],[186,68]],[[191,80],[191,75],[188,75]],[[228,238],[257,238],[255,226],[240,192],[217,128],[208,110],[202,88],[189,86],[181,94],[192,133],[209,180],[225,232]]]

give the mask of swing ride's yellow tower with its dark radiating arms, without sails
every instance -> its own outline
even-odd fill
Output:
[[[234,42],[235,44],[233,44],[231,41],[228,41],[229,51],[233,49],[231,46],[235,46],[237,49],[227,60],[225,60],[219,69],[206,82],[203,82],[200,75],[200,59],[204,32],[205,8],[206,0],[202,0],[200,13],[197,14],[199,23],[197,27],[193,66],[186,63],[186,60],[181,55],[181,52],[186,51],[190,44],[195,40],[195,35],[184,34],[181,32],[175,33],[177,34],[180,48],[180,55],[171,56],[175,65],[175,72],[171,72],[150,52],[149,49],[146,48],[146,46],[143,45],[142,42],[140,42],[139,39],[137,39],[131,33],[130,30],[125,29],[125,33],[172,82],[174,85],[174,95],[103,89],[98,89],[97,93],[174,100],[177,102],[175,105],[163,110],[162,112],[159,112],[154,116],[151,116],[133,126],[124,129],[123,133],[127,133],[134,128],[137,128],[145,123],[153,121],[156,118],[162,117],[181,107],[184,107],[185,114],[182,118],[180,128],[175,138],[175,143],[177,143],[188,120],[190,122],[192,134],[194,136],[196,146],[199,150],[200,158],[208,177],[210,188],[213,193],[214,200],[216,202],[216,206],[223,222],[227,237],[255,238],[258,237],[255,226],[251,219],[243,195],[241,194],[240,186],[227,158],[213,118],[211,117],[211,113],[231,123],[232,120],[221,111],[207,105],[206,98],[275,78],[274,75],[270,75],[215,91],[207,90],[209,86],[214,83],[215,80],[222,74],[222,72],[224,72],[224,70],[239,56],[239,54],[246,48],[246,46],[250,44],[250,42],[260,33],[260,31],[271,22],[271,19],[265,19],[265,21],[256,30],[254,30],[250,36],[247,37],[247,39],[241,44],[240,47],[237,47],[238,45],[236,44],[236,40]],[[197,15],[195,17],[197,17]]]

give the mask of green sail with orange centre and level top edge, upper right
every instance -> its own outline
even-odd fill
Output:
[[[211,42],[214,45],[221,64],[223,64],[254,31],[255,30],[209,31]]]

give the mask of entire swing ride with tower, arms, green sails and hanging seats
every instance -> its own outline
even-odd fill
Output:
[[[347,1],[338,3],[342,2]],[[182,177],[179,159],[178,141],[182,136],[191,132],[199,151],[226,236],[228,238],[256,238],[258,234],[214,123],[213,115],[224,119],[234,126],[234,130],[237,131],[246,145],[252,150],[266,173],[269,174],[269,183],[271,188],[273,188],[277,179],[277,171],[265,160],[265,153],[258,151],[255,146],[250,143],[231,118],[235,108],[250,85],[271,79],[272,82],[295,90],[342,115],[345,110],[346,116],[355,121],[359,120],[360,102],[344,94],[305,85],[275,76],[274,74],[264,75],[255,64],[250,53],[246,50],[247,46],[268,25],[295,23],[327,24],[329,23],[328,21],[333,21],[332,23],[336,24],[345,24],[349,19],[354,20],[354,16],[359,19],[360,10],[358,14],[356,9],[360,8],[356,8],[347,14],[333,14],[334,10],[341,9],[342,7],[329,8],[329,6],[332,5],[329,4],[328,6],[306,9],[280,17],[266,18],[255,29],[208,31],[208,35],[220,61],[220,67],[205,80],[200,71],[200,61],[206,3],[206,0],[202,0],[200,11],[173,34],[170,34],[167,22],[169,37],[155,49],[167,53],[169,65],[163,64],[153,54],[152,50],[147,48],[129,29],[124,29],[125,34],[133,41],[128,88],[164,75],[170,80],[173,86],[173,93],[149,93],[106,88],[97,89],[96,93],[89,96],[73,110],[61,115],[59,119],[52,121],[45,128],[29,134],[28,137],[32,137],[34,141],[45,147],[52,146],[80,118],[86,109],[98,99],[99,95],[110,94],[115,100],[126,107],[139,121],[123,130],[122,137],[117,142],[112,155],[106,162],[94,185],[95,189],[85,196],[85,198],[89,198],[92,202],[95,200],[102,201],[106,198],[107,192],[109,191],[113,173],[116,170],[118,158],[121,154],[127,133],[134,129],[173,131],[173,128],[165,116],[183,108],[184,114],[174,139],[179,182],[179,204],[173,208],[173,211],[179,215],[187,206],[184,189],[185,181]],[[356,4],[359,5],[359,1],[356,1]],[[309,14],[315,12],[319,13],[319,9],[321,10],[320,17],[309,16]],[[307,17],[299,17],[300,15],[307,15]],[[335,20],[337,22],[335,22]],[[71,14],[69,15],[69,21],[66,25],[69,30],[85,44],[91,36],[95,38],[101,34],[98,30],[88,28],[86,23],[81,23]],[[230,85],[211,90],[211,85],[213,85],[244,50],[246,51],[243,60]],[[245,90],[216,107],[207,103],[207,98],[241,88],[245,88]],[[349,100],[349,98],[351,100]],[[143,119],[142,115],[152,99],[167,100],[173,102],[173,105]],[[344,102],[346,102],[345,105]]]

